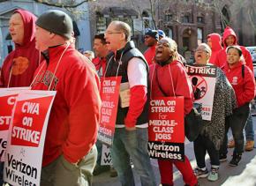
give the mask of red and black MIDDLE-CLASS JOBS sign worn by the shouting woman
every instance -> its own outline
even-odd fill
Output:
[[[151,158],[184,160],[184,97],[150,100],[148,153]]]

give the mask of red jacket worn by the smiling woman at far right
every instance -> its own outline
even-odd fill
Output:
[[[249,67],[244,64],[245,77],[243,78],[242,65],[243,63],[239,62],[230,68],[229,64],[227,63],[222,69],[236,93],[237,108],[250,102],[255,96],[254,75]]]

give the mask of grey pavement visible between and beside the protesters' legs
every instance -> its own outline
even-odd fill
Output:
[[[252,117],[254,130],[256,130],[256,117]],[[185,154],[191,161],[192,167],[196,167],[196,161],[193,153],[192,143],[189,141],[185,142]],[[238,167],[230,167],[229,161],[231,160],[231,154],[233,149],[229,149],[228,161],[222,162],[219,170],[219,180],[216,182],[209,182],[207,178],[200,178],[200,186],[255,186],[256,185],[256,149],[252,152],[243,153],[242,160],[240,161]],[[160,184],[160,175],[158,170],[158,165],[156,160],[151,160],[154,167],[154,175],[156,181]],[[207,168],[210,169],[209,159],[207,157]],[[136,180],[136,186],[140,186],[139,177],[136,176],[135,171],[133,172]],[[174,167],[174,181],[175,186],[183,186],[184,182],[179,171]],[[94,176],[93,186],[121,186],[118,182],[117,177],[111,178],[109,172],[103,173],[102,175]]]

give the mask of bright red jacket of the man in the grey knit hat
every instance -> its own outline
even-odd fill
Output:
[[[76,163],[92,148],[97,138],[100,119],[100,80],[75,48],[49,48],[49,62],[42,62],[35,71],[33,90],[56,90],[49,115],[42,166],[64,154],[65,160]],[[64,52],[58,68],[56,64]],[[56,74],[54,71],[56,70]]]

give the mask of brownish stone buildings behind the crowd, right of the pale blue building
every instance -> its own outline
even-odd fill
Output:
[[[192,57],[192,51],[200,42],[207,41],[207,34],[222,33],[227,25],[237,33],[239,44],[256,45],[255,29],[247,19],[243,19],[246,4],[242,9],[239,2],[241,1],[97,0],[89,3],[91,33],[94,35],[104,32],[111,20],[124,20],[132,26],[132,40],[143,51],[145,30],[156,27],[177,41],[178,50],[186,59]]]

